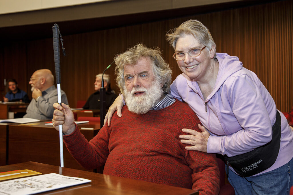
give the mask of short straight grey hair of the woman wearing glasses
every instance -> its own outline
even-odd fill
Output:
[[[203,25],[198,20],[187,20],[182,23],[177,28],[172,29],[166,34],[166,39],[170,43],[170,45],[175,49],[176,42],[180,37],[184,37],[185,35],[191,34],[197,39],[201,44],[207,46],[207,49],[211,49],[215,46],[216,52],[216,44],[214,39],[207,29],[205,25]]]

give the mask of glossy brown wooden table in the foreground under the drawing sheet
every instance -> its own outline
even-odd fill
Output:
[[[61,168],[53,165],[46,165],[42,163],[26,162],[13,165],[6,165],[0,167],[0,172],[11,171],[11,170],[23,170],[29,169],[43,174],[47,173],[58,173],[69,177],[81,177],[92,182],[87,184],[81,184],[77,186],[62,188],[54,191],[48,191],[40,194],[147,194],[147,195],[196,195],[198,191],[191,189],[185,189],[180,187],[173,187],[162,184],[155,184],[150,182],[143,182],[138,180],[127,179],[123,177],[115,177],[110,175],[103,175],[99,173],[87,172],[82,170],[74,170],[69,168]]]

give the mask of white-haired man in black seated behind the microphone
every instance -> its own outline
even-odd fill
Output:
[[[102,75],[98,74],[96,75],[95,80],[95,93],[91,94],[84,104],[82,108],[84,109],[100,109],[100,88],[102,87]],[[115,91],[111,89],[110,85],[110,75],[104,74],[104,87],[106,88],[106,109],[108,109],[112,103],[115,101],[117,95],[115,94]]]

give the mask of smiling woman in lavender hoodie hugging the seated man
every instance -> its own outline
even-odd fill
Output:
[[[268,143],[277,108],[255,73],[244,68],[238,57],[216,53],[209,30],[197,20],[186,21],[166,36],[183,72],[171,84],[171,94],[188,103],[202,123],[202,133],[182,130],[190,135],[180,135],[181,142],[192,145],[185,149],[236,156]],[[115,110],[116,105],[109,109]],[[241,177],[229,167],[228,180],[236,194],[289,194],[293,132],[280,115],[281,142],[275,163],[251,177]]]

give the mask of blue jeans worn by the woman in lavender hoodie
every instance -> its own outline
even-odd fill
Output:
[[[229,170],[228,180],[236,195],[289,195],[293,186],[293,158],[275,170],[254,177],[241,177]]]

